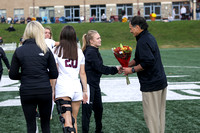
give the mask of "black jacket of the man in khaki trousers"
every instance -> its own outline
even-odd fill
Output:
[[[143,92],[157,91],[167,87],[167,78],[162,65],[160,51],[156,39],[147,31],[142,31],[137,37],[135,51],[136,65],[144,69],[138,72],[138,78]]]

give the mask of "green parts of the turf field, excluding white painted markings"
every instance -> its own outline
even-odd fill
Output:
[[[187,77],[168,77],[168,82],[200,81],[200,48],[170,48],[161,49],[160,51],[167,76],[188,75]],[[119,65],[111,50],[101,50],[101,54],[104,64]],[[12,53],[7,53],[7,56],[10,60]],[[195,91],[200,92],[200,88]],[[181,90],[174,90],[174,92],[184,94]],[[13,99],[18,95],[16,91],[0,92],[0,101]],[[184,95],[200,97],[200,95]],[[141,102],[104,103],[103,106],[103,129],[105,133],[148,132],[143,118]],[[168,100],[166,107],[166,133],[198,133],[200,131],[199,110],[200,100]],[[0,107],[0,116],[0,132],[26,132],[25,119],[20,106]],[[81,132],[81,108],[78,116],[78,127],[79,132]],[[92,117],[90,133],[95,131],[94,127],[94,118]],[[56,109],[54,110],[53,120],[51,120],[51,131],[52,133],[62,132]]]

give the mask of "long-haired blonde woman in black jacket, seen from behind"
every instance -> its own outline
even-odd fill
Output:
[[[43,133],[50,133],[52,88],[50,79],[58,77],[54,56],[44,40],[44,28],[36,21],[27,24],[23,45],[14,52],[9,77],[20,80],[20,98],[27,132],[36,132],[36,107]]]

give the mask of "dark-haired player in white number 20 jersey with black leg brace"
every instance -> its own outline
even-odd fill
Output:
[[[66,110],[62,113],[65,119],[64,130],[77,133],[77,115],[81,101],[88,100],[87,78],[85,73],[85,57],[77,46],[76,32],[72,26],[65,26],[60,33],[60,44],[54,50],[54,56],[59,71],[55,84],[55,100],[71,101],[62,104]],[[80,75],[80,79],[78,78]],[[82,88],[83,87],[83,88]],[[71,108],[69,111],[67,108]],[[71,114],[72,113],[72,114]],[[72,116],[73,118],[72,118]],[[75,124],[73,127],[73,119]],[[75,129],[74,129],[75,128]]]

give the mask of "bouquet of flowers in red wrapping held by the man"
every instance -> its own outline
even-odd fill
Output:
[[[122,67],[128,67],[128,63],[131,59],[132,48],[129,46],[123,46],[120,44],[120,47],[112,48],[114,52],[115,58],[119,61]],[[126,75],[126,83],[127,85],[130,84],[130,80],[128,75]]]

